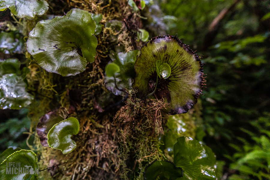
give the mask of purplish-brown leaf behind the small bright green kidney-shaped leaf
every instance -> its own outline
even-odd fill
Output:
[[[44,116],[42,116],[38,122],[36,132],[39,136],[40,143],[42,146],[48,147],[47,143],[47,135],[50,129],[57,123],[63,121],[59,114],[59,108],[55,108],[54,110],[49,111]]]

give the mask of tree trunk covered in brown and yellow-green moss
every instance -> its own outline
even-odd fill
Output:
[[[103,17],[102,31],[96,36],[95,62],[88,63],[86,70],[76,76],[49,73],[26,54],[27,67],[31,70],[27,81],[35,95],[29,112],[30,132],[35,134],[35,142],[29,146],[38,150],[39,169],[49,167],[40,172],[39,178],[143,179],[144,168],[149,162],[163,160],[166,156],[170,159],[172,153],[170,149],[162,149],[165,140],[160,139],[164,128],[168,130],[168,115],[161,111],[164,105],[157,100],[140,102],[134,90],[126,97],[115,96],[104,83],[104,69],[111,60],[111,50],[128,52],[143,45],[137,40],[138,29],[143,28],[140,11],[134,11],[125,0],[49,0],[48,3],[47,14],[62,16],[71,8],[80,8]],[[122,26],[106,25],[115,20],[122,22]],[[35,23],[35,20],[28,21],[28,33]],[[124,98],[126,101],[121,102]],[[173,117],[183,122],[172,126],[176,134],[183,133],[177,128],[184,127],[187,131],[182,135],[195,137],[193,119],[199,120],[199,106],[198,103],[189,113]],[[73,152],[63,155],[59,150],[41,146],[35,129],[41,118],[52,113],[79,120],[79,133],[73,138],[77,146]],[[167,143],[173,145],[174,142]]]

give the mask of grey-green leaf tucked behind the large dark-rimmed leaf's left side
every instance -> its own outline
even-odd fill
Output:
[[[134,63],[139,53],[139,50],[133,50],[126,53],[119,52],[118,54],[115,52],[111,53],[110,57],[113,60],[113,63],[119,66],[120,71],[115,73],[115,78],[106,74],[104,81],[107,89],[112,91],[113,94],[123,95],[124,92],[119,90],[132,88],[132,79],[135,77]],[[118,89],[116,88],[115,84],[117,85]]]

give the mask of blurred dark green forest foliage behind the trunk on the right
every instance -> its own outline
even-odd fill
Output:
[[[270,111],[270,1],[147,2],[149,19],[143,22],[152,36],[177,33],[203,55],[207,88],[196,139],[217,156],[216,176],[269,179],[269,164],[260,155],[267,156],[270,128],[258,121],[269,123],[264,113]]]

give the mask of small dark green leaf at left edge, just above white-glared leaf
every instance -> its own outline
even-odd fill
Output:
[[[19,75],[21,73],[20,65],[18,59],[6,59],[0,62],[0,76],[11,73]]]

